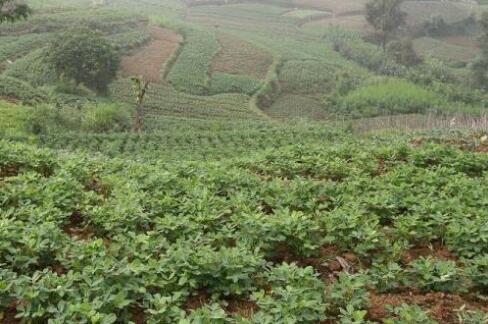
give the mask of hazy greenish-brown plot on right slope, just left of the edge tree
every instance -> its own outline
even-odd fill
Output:
[[[463,45],[464,43],[464,45]],[[470,43],[471,46],[466,46]],[[479,53],[469,40],[460,38],[447,38],[443,40],[422,37],[414,40],[415,50],[421,55],[434,56],[442,60],[467,62]]]

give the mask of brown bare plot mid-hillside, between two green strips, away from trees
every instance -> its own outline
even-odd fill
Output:
[[[256,46],[228,34],[219,36],[221,49],[215,56],[211,71],[239,74],[264,79],[273,57]]]

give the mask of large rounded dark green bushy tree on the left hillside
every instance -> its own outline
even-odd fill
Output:
[[[105,94],[115,78],[120,57],[98,32],[87,28],[71,30],[57,37],[47,49],[47,61],[60,79]]]

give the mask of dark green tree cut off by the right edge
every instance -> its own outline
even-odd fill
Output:
[[[478,39],[481,53],[471,65],[473,82],[476,87],[488,89],[488,12],[481,15],[479,25],[482,35]]]

